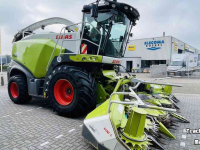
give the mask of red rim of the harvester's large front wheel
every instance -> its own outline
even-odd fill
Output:
[[[74,89],[72,84],[66,79],[60,79],[54,86],[54,96],[61,105],[69,105],[74,98]]]

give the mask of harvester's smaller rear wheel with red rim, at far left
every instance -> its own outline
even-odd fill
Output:
[[[23,104],[31,100],[28,94],[26,78],[22,75],[12,76],[8,81],[8,94],[15,104]]]

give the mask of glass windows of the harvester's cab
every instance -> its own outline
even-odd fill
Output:
[[[104,12],[94,19],[90,13],[85,13],[84,22],[86,23],[82,44],[87,45],[87,54],[97,54],[100,45],[99,55],[122,56],[124,41],[127,38],[125,35],[130,24],[124,14]]]

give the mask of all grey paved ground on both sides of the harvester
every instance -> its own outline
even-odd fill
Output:
[[[191,85],[191,82],[197,82],[194,88],[199,83],[187,80],[187,84]],[[186,128],[200,128],[200,95],[184,94],[184,90],[181,88],[176,96],[181,100],[181,114],[191,123],[179,123],[177,130],[171,130],[177,140],[164,140],[167,150],[200,149],[200,145],[194,145],[194,139],[200,140],[200,134],[185,132]],[[187,92],[192,91],[188,89]],[[9,99],[7,86],[0,86],[0,150],[94,150],[81,136],[82,121],[83,118],[58,116],[47,100],[33,99],[28,104],[15,105]]]

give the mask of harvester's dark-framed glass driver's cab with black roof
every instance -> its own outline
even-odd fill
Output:
[[[138,11],[115,1],[97,1],[92,5],[83,7],[83,38],[81,53],[86,45],[87,54],[121,58],[126,48],[126,43],[135,21],[139,19]],[[113,63],[118,63],[114,61]]]

